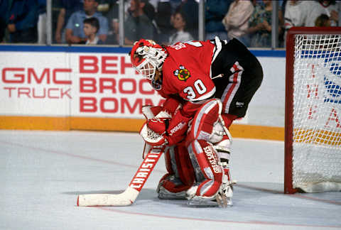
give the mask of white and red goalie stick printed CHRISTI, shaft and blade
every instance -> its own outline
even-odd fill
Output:
[[[164,153],[166,146],[156,147],[146,144],[148,154],[136,171],[133,179],[126,190],[120,194],[87,194],[78,195],[77,206],[127,206],[133,204],[139,192],[144,187],[144,183],[153,171],[158,159]]]

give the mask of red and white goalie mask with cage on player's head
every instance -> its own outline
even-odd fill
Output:
[[[162,65],[166,57],[166,50],[153,40],[141,39],[135,42],[130,53],[131,63],[134,68],[141,75],[144,75],[146,79],[151,80],[152,85],[157,83],[154,81],[156,70],[162,70]],[[158,84],[160,83],[158,82]]]

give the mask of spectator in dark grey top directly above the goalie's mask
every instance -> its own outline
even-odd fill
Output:
[[[124,44],[133,45],[136,40],[153,40],[154,27],[151,20],[144,12],[148,0],[131,0],[129,16],[124,21]]]

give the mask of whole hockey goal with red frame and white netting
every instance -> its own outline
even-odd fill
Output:
[[[284,192],[341,191],[341,27],[286,37]]]

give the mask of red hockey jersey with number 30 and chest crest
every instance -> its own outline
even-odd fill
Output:
[[[178,94],[185,101],[199,102],[215,94],[210,73],[214,43],[210,40],[175,43],[166,46],[166,50],[161,96]]]

